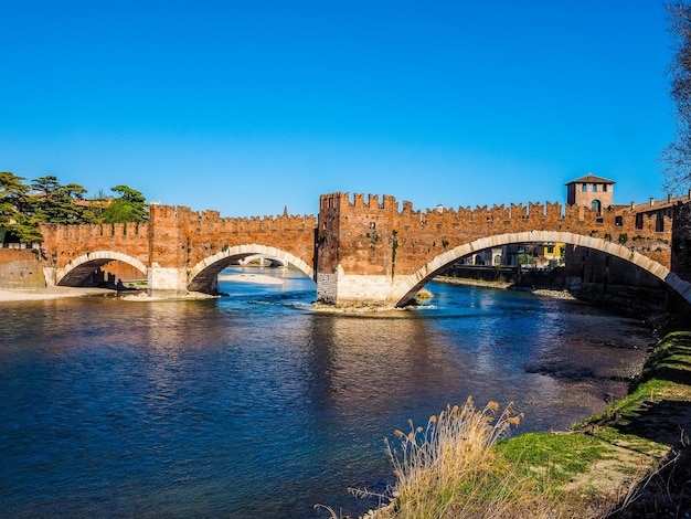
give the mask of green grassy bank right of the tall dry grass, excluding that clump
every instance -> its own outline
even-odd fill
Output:
[[[500,445],[564,517],[689,517],[691,332],[655,348],[628,396],[563,433]],[[687,515],[684,515],[687,513]]]

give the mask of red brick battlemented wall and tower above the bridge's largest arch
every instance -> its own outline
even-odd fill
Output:
[[[319,272],[334,273],[340,264],[346,274],[412,274],[445,251],[475,240],[524,231],[567,231],[600,237],[670,265],[671,232],[655,232],[647,219],[636,229],[634,212],[605,212],[559,203],[511,204],[458,208],[438,212],[415,211],[411,202],[398,206],[395,198],[332,193],[321,197],[319,233],[326,236],[319,247]],[[670,229],[666,225],[665,229]],[[395,234],[395,236],[394,236]],[[395,255],[394,255],[395,250]]]

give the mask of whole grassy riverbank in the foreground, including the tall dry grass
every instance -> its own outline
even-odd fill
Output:
[[[393,501],[370,517],[689,517],[691,332],[668,335],[627,398],[567,432],[496,443],[519,416],[469,403],[396,434]]]

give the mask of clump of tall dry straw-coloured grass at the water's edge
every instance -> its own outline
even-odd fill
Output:
[[[511,405],[500,412],[496,402],[477,410],[469,398],[424,428],[408,421],[407,434],[395,432],[400,449],[386,442],[397,477],[392,502],[370,517],[549,517],[534,478],[519,476],[492,448],[521,417]]]

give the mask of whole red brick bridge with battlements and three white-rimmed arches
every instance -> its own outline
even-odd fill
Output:
[[[146,223],[43,225],[41,232],[51,285],[78,286],[96,268],[120,261],[146,274],[151,293],[213,294],[223,268],[258,254],[315,279],[321,303],[404,306],[461,257],[529,242],[563,242],[619,257],[691,303],[688,227],[684,239],[673,242],[670,218],[662,225],[639,218],[637,225],[632,210],[598,215],[594,209],[548,202],[423,212],[411,202],[401,209],[390,195],[365,201],[363,194],[351,200],[349,193],[331,193],[320,197],[318,218],[232,219],[216,211],[150,205]],[[682,264],[674,263],[674,247],[681,250]]]

